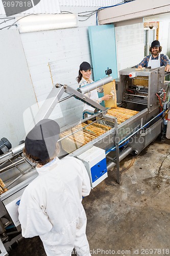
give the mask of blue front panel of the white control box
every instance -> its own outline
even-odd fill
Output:
[[[99,163],[91,167],[91,179],[92,182],[99,179],[102,175],[107,172],[106,158],[104,158]]]

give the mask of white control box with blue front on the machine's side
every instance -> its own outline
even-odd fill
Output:
[[[105,150],[100,147],[92,146],[89,150],[77,156],[88,172],[91,188],[98,185],[108,177]]]

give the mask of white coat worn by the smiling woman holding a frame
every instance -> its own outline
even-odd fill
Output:
[[[93,82],[93,80],[89,79],[89,83]],[[81,81],[79,82],[79,86],[83,87],[83,86],[86,86],[86,84],[88,84],[88,82],[82,77]],[[97,89],[94,89],[92,90],[91,92],[88,92],[86,93],[85,95],[94,100],[95,102],[97,103],[101,103],[102,102],[102,98],[99,98],[98,96],[98,91],[100,92],[101,88],[99,88],[98,90]],[[88,104],[84,104],[83,105],[83,111],[85,110],[91,110],[91,111],[94,111],[94,108],[92,108],[92,106],[89,106]]]

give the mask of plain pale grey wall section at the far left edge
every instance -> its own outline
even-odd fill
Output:
[[[25,135],[23,112],[36,104],[36,97],[18,31],[0,31],[0,36],[0,139],[16,146]]]

